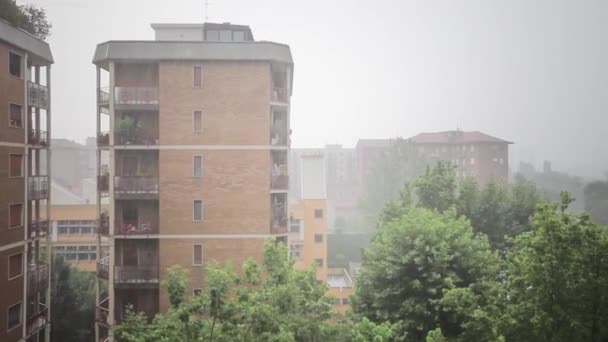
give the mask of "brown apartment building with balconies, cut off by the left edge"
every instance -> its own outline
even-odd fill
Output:
[[[0,20],[0,341],[48,341],[49,45]],[[44,165],[44,167],[43,167]]]

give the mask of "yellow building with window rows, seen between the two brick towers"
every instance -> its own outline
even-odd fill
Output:
[[[94,204],[53,205],[51,209],[53,251],[83,271],[96,270],[96,218]]]

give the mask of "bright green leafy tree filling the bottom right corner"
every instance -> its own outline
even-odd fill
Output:
[[[500,320],[509,340],[608,338],[608,232],[567,213],[571,202],[562,193],[559,205],[539,205],[532,230],[513,239]]]

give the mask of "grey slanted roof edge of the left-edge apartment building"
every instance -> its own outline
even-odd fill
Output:
[[[0,40],[27,51],[30,54],[28,61],[32,65],[53,63],[49,44],[3,19],[0,19]]]

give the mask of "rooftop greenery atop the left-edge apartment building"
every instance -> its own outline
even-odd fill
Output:
[[[33,5],[19,6],[14,0],[0,0],[0,18],[45,40],[51,32],[46,10]]]

